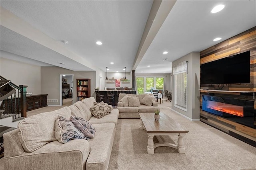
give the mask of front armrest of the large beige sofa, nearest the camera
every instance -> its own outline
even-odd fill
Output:
[[[90,146],[85,139],[68,143],[50,142],[34,152],[24,152],[19,156],[4,157],[5,169],[85,169]]]

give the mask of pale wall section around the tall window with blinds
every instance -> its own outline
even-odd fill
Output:
[[[172,109],[190,120],[200,119],[200,53],[192,52],[176,61],[172,65],[176,65],[183,61],[188,61],[188,77],[187,77],[187,111],[174,106],[174,76],[172,76]]]

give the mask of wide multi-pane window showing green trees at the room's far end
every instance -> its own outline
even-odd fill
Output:
[[[156,90],[164,90],[164,77],[136,77],[136,85],[138,94],[151,92],[151,88]]]

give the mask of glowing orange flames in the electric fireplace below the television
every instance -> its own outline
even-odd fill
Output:
[[[220,102],[214,102],[214,101],[207,101],[207,108],[214,109],[217,111],[222,111],[225,113],[229,113],[232,115],[244,117],[244,107],[243,106],[236,106],[232,104],[225,104]]]

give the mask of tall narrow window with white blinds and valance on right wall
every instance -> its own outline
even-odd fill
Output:
[[[187,111],[187,62],[173,66],[174,106]]]

